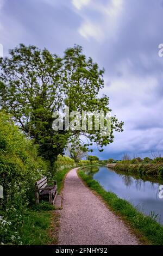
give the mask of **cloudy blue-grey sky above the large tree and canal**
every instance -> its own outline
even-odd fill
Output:
[[[162,0],[0,0],[4,56],[20,43],[62,56],[81,45],[105,69],[101,94],[124,121],[100,159],[163,156]]]

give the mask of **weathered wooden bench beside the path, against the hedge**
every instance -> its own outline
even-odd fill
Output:
[[[41,180],[35,182],[35,203],[39,204],[39,200],[48,200],[49,203],[54,204],[57,197],[57,182],[53,186],[48,186],[47,177],[44,176]]]

